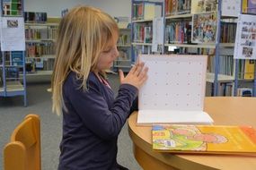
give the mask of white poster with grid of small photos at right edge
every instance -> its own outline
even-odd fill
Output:
[[[256,16],[239,14],[234,43],[235,59],[256,59]]]

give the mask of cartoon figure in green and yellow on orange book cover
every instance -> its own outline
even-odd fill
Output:
[[[216,133],[203,133],[196,126],[154,126],[157,134],[163,138],[154,140],[157,148],[177,149],[177,150],[207,150],[208,143],[225,143],[225,136]],[[168,130],[168,131],[166,131]],[[168,133],[169,134],[166,134]]]

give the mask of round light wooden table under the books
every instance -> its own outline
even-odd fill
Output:
[[[209,97],[204,110],[218,125],[251,125],[256,128],[256,98]],[[128,118],[134,155],[144,169],[255,170],[256,157],[232,155],[189,155],[153,151],[151,126],[137,126],[137,112]]]

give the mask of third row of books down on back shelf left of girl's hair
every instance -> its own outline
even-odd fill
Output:
[[[26,43],[26,57],[55,55],[55,48],[54,42]]]

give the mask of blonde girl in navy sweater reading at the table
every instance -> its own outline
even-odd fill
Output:
[[[59,24],[52,77],[52,108],[63,113],[59,170],[126,169],[116,160],[118,135],[148,69],[136,64],[126,77],[119,71],[114,98],[104,70],[119,55],[118,38],[110,15],[89,6],[75,7]]]

